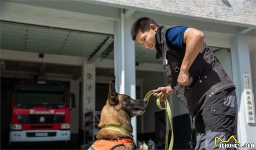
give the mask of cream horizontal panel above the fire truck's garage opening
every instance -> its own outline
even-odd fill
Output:
[[[32,1],[29,3],[31,4],[31,2]],[[76,2],[72,3],[76,4]],[[37,2],[37,4],[39,4],[39,2]],[[64,6],[65,4],[61,3],[61,5]],[[66,6],[68,6],[68,4],[66,4]],[[1,1],[1,19],[40,26],[106,34],[114,33],[114,21],[111,20],[95,19],[95,16],[89,17],[88,14],[66,11],[63,8],[52,9],[47,8],[47,6],[32,6],[29,4],[18,4],[16,2]]]

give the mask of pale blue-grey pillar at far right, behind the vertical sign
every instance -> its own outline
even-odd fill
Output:
[[[238,102],[238,139],[237,142],[256,143],[256,124],[247,123],[248,105],[247,98],[245,98],[248,89],[252,89],[252,77],[249,58],[249,47],[247,44],[247,37],[243,35],[236,35],[231,39],[231,58],[232,58],[232,74],[234,84],[236,85],[236,95]],[[245,80],[244,75],[248,75]],[[249,80],[249,82],[248,82]],[[253,91],[253,90],[251,90]],[[248,96],[248,95],[247,95]],[[251,101],[254,102],[253,93],[251,93]],[[255,103],[255,102],[254,102]],[[252,105],[255,120],[255,107]]]

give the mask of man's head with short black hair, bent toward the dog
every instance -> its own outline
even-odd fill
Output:
[[[143,45],[145,48],[155,49],[155,35],[157,28],[158,24],[154,20],[148,17],[141,17],[137,19],[137,21],[135,21],[132,25],[132,40],[136,40],[140,45]]]

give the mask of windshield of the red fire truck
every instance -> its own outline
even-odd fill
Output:
[[[66,92],[16,91],[15,106],[20,107],[65,107]]]

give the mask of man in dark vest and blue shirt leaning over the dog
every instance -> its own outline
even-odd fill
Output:
[[[154,96],[162,99],[173,92],[186,105],[195,120],[195,149],[219,149],[215,137],[236,137],[235,86],[204,43],[204,33],[187,26],[168,29],[142,17],[132,25],[131,36],[145,48],[156,49],[156,58],[163,59],[170,86],[154,90]]]

